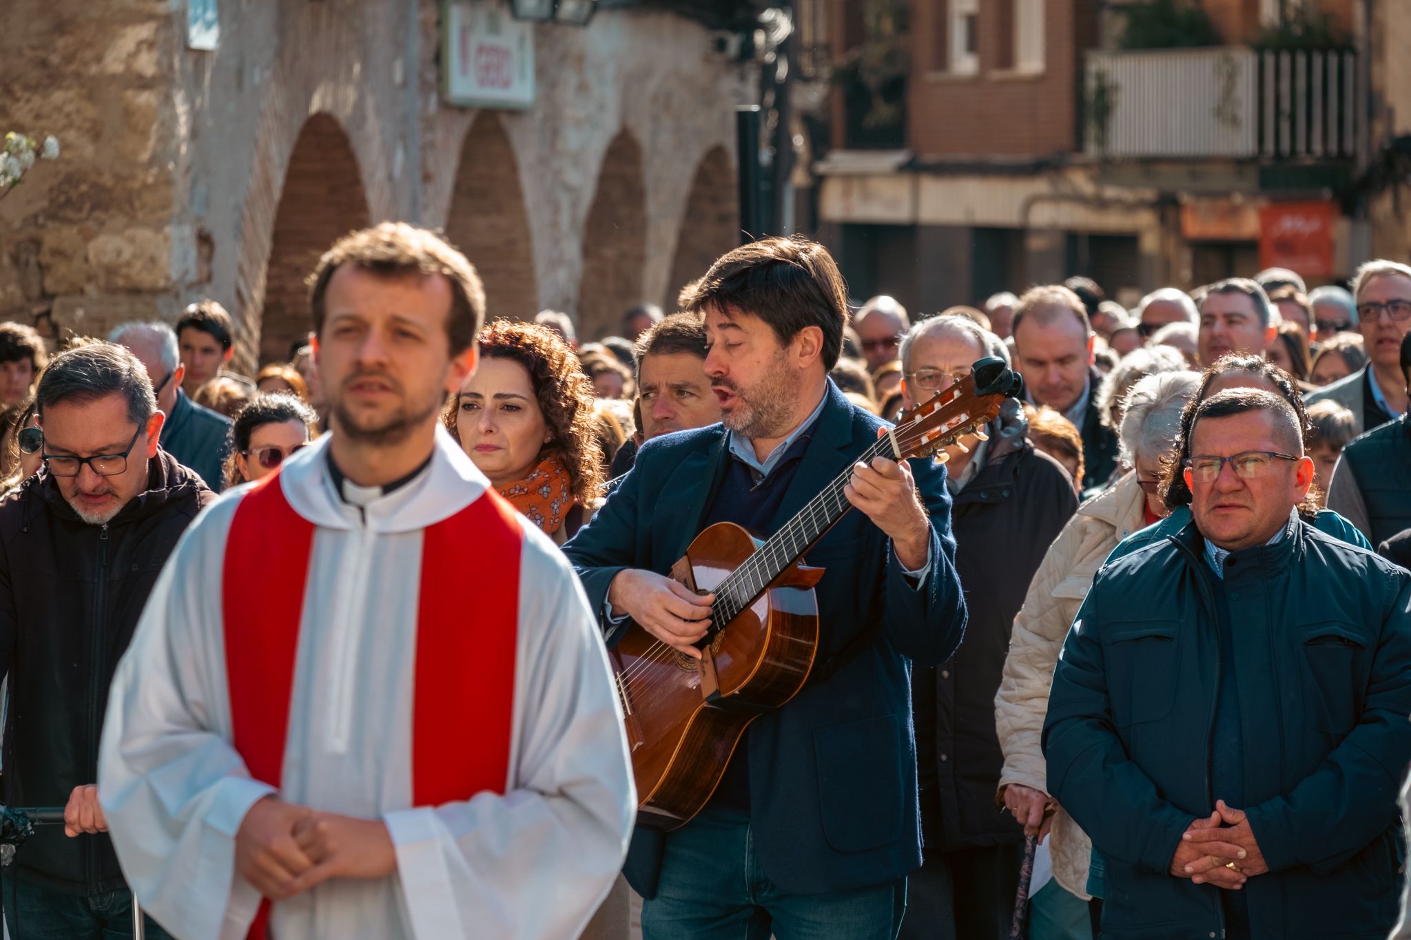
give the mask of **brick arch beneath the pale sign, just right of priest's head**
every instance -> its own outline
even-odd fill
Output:
[[[478,114],[461,144],[446,237],[480,272],[487,316],[533,319],[533,235],[515,154],[494,114]]]

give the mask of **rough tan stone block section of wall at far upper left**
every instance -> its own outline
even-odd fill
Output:
[[[203,275],[174,225],[178,118],[169,4],[8,0],[0,28],[0,132],[55,134],[0,202],[0,314],[78,333],[171,314]]]

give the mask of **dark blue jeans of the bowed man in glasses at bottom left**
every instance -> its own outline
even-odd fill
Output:
[[[124,888],[100,895],[69,895],[32,881],[0,875],[10,940],[123,940],[133,936],[133,895]],[[147,940],[172,940],[144,917]]]

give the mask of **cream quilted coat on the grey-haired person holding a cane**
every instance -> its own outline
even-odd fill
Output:
[[[1005,753],[1000,793],[1010,784],[1048,792],[1040,736],[1058,651],[1098,568],[1119,541],[1143,527],[1144,500],[1136,474],[1127,474],[1112,489],[1079,506],[1029,585],[995,695],[995,726]],[[1091,847],[1078,824],[1058,808],[1048,843],[1054,878],[1084,901]]]

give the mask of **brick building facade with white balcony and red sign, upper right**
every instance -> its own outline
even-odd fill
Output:
[[[876,18],[849,32],[854,1],[834,6],[842,61],[883,38]],[[934,311],[1086,275],[1130,306],[1270,265],[1329,283],[1373,251],[1407,256],[1387,149],[1411,120],[1393,38],[1411,4],[1201,0],[1204,32],[1182,35],[1137,0],[892,3],[903,120],[879,134],[883,96],[844,85],[817,165],[858,297]]]

